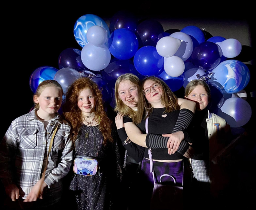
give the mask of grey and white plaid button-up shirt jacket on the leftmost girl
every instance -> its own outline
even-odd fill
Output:
[[[73,160],[71,126],[59,114],[45,131],[35,110],[15,119],[0,145],[0,178],[4,186],[14,183],[24,199],[39,181],[46,164],[49,144],[55,128],[52,149],[48,158],[44,199],[56,203],[61,196],[61,179],[67,175]]]

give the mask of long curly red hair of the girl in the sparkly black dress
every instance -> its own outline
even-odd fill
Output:
[[[72,126],[73,141],[76,141],[84,121],[82,111],[78,107],[78,95],[86,88],[90,88],[96,98],[95,117],[97,117],[96,121],[99,123],[99,130],[104,137],[103,145],[106,145],[107,141],[113,142],[111,135],[111,121],[104,110],[102,94],[96,83],[92,82],[87,77],[77,79],[67,91],[66,102],[63,106],[63,114],[65,119]]]

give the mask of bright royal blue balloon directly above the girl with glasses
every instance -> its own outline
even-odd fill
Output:
[[[164,66],[164,57],[153,46],[140,48],[133,59],[134,66],[144,76],[158,75]]]

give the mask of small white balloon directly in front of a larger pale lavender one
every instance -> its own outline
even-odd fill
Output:
[[[179,39],[165,36],[157,42],[157,52],[162,57],[171,57],[177,52],[180,44]]]

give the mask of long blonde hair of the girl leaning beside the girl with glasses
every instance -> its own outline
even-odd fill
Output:
[[[137,87],[138,91],[140,89],[140,80],[136,75],[133,75],[132,73],[126,73],[124,75],[119,76],[115,84],[116,107],[114,111],[124,114],[129,118],[133,118],[136,114],[136,111],[134,111],[133,109],[131,109],[131,107],[124,104],[123,101],[120,99],[118,93],[120,83],[125,80],[129,80],[132,84],[134,84]]]

